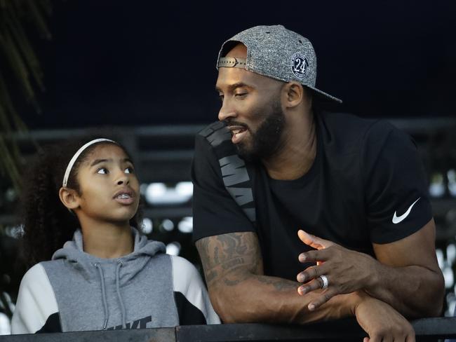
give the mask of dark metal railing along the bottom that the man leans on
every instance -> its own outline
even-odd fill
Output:
[[[456,338],[456,317],[423,318],[411,322],[417,341]],[[0,342],[238,342],[238,341],[362,341],[366,333],[356,320],[298,325],[214,324],[173,328],[81,331],[0,336]]]

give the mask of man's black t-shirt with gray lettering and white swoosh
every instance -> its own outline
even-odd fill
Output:
[[[315,117],[316,158],[291,181],[271,179],[261,163],[237,156],[220,122],[196,136],[195,241],[253,231],[264,274],[295,280],[309,266],[297,260],[310,249],[298,229],[373,255],[373,242],[400,240],[427,224],[427,179],[408,135],[387,121],[324,112]]]

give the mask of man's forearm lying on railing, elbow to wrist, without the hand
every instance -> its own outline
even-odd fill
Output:
[[[318,310],[308,304],[318,292],[297,294],[297,282],[252,273],[231,273],[210,289],[217,313],[226,323],[283,322],[302,324],[354,315],[356,294],[335,296]]]

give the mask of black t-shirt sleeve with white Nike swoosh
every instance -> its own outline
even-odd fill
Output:
[[[386,122],[370,129],[361,158],[372,242],[401,240],[432,219],[427,177],[410,136]]]

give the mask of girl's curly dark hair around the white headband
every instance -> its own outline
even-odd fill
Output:
[[[98,137],[100,136],[95,138]],[[74,231],[79,228],[76,215],[63,205],[58,193],[69,160],[83,144],[95,138],[86,137],[48,145],[37,153],[32,167],[27,170],[22,189],[20,216],[23,225],[22,257],[25,259],[27,268],[40,261],[50,260],[53,253],[66,241],[71,240]],[[67,187],[76,190],[79,194],[80,187],[77,182],[79,166],[90,151],[99,144],[112,143],[99,142],[88,146],[72,167]],[[125,147],[121,146],[121,148],[130,156]],[[130,219],[130,225],[138,228],[139,221],[140,210]]]

